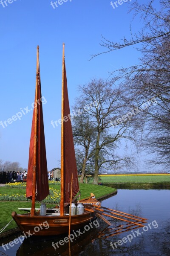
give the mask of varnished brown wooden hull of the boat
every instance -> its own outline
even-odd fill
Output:
[[[66,216],[31,216],[30,213],[18,215],[12,212],[12,217],[18,227],[29,236],[57,236],[68,233],[69,215]],[[94,212],[71,216],[71,231],[79,230],[96,218]]]

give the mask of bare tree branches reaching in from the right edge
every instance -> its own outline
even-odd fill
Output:
[[[141,64],[112,74],[118,71],[117,78],[125,79],[131,108],[145,106],[136,116],[136,122],[141,125],[141,145],[151,155],[155,154],[150,163],[170,171],[170,0],[160,0],[159,10],[153,7],[153,2],[132,4],[131,11],[144,20],[139,33],[130,29],[130,39],[124,37],[121,42],[103,38],[102,46],[107,48],[105,52],[110,52],[139,45]],[[150,100],[155,104],[148,104]]]

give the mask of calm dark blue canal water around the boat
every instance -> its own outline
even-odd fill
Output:
[[[107,217],[112,226],[107,227],[105,222],[99,221],[98,227],[98,222],[95,221],[90,231],[83,233],[81,230],[82,235],[77,233],[79,236],[71,243],[71,256],[170,256],[170,190],[119,189],[117,195],[102,201],[102,206],[147,218],[145,224],[147,227],[144,230],[139,228],[139,231],[135,229],[136,233],[135,230],[129,230],[111,236],[111,228],[123,224],[122,222]],[[132,232],[136,234],[136,238],[134,236],[132,238]],[[19,234],[15,234],[3,239],[0,244],[9,243],[18,236]],[[127,236],[129,240],[132,239],[129,241]],[[9,249],[5,247],[4,250],[0,247],[0,255],[69,256],[68,243],[63,245],[58,243],[59,248],[56,245],[56,250],[52,246],[52,242],[55,244],[64,237],[24,239],[22,244],[15,244]],[[123,238],[126,242],[120,246],[116,244],[116,248],[114,243]]]

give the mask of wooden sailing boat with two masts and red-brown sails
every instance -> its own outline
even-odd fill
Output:
[[[86,210],[83,214],[69,216],[68,205],[71,198],[74,198],[79,192],[79,183],[77,176],[77,166],[74,151],[73,134],[71,120],[66,117],[70,114],[67,90],[67,78],[65,70],[64,44],[62,56],[62,132],[61,132],[61,202],[59,209],[48,210],[48,215],[40,215],[36,212],[35,201],[42,201],[49,194],[48,172],[45,152],[45,137],[41,102],[41,83],[40,83],[40,65],[39,65],[39,47],[37,47],[37,74],[35,104],[32,120],[28,177],[26,187],[26,197],[32,201],[31,211],[26,214],[17,214],[12,212],[12,217],[18,227],[23,232],[29,232],[35,236],[52,236],[68,233],[70,230],[77,230],[96,218],[96,213]],[[71,184],[72,176],[72,184]],[[72,185],[72,186],[71,186]],[[93,199],[93,204],[99,204]],[[92,204],[91,204],[92,206]],[[48,223],[44,227],[42,224]],[[36,227],[39,228],[35,232]]]

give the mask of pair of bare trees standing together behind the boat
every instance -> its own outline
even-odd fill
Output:
[[[94,172],[94,184],[98,184],[99,171],[116,170],[132,157],[117,154],[121,140],[133,140],[133,128],[128,119],[116,122],[126,109],[124,90],[113,84],[113,81],[93,79],[89,84],[80,87],[79,99],[74,109],[81,115],[74,118],[74,140],[76,142],[77,162],[82,170],[81,182],[85,172]],[[116,124],[114,125],[114,123]]]

